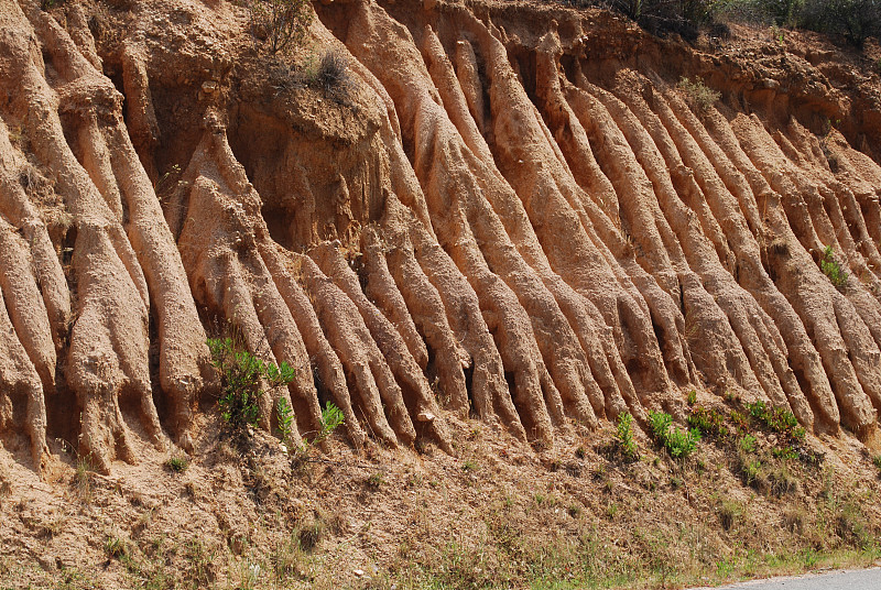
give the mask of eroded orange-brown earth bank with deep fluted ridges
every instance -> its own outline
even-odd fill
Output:
[[[7,495],[74,457],[146,489],[156,457],[198,462],[218,326],[296,370],[264,427],[283,397],[311,438],[333,402],[356,452],[440,465],[477,419],[531,465],[626,412],[682,419],[692,390],[881,451],[874,45],[690,46],[526,2],[315,10],[268,56],[221,0],[0,0]],[[342,86],[315,83],[328,52]]]

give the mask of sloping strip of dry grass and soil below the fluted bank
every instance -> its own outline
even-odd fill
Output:
[[[808,468],[760,455],[770,448],[760,430],[751,451],[707,438],[674,460],[634,424],[641,458],[628,462],[606,451],[618,440],[613,425],[536,456],[468,420],[457,426],[458,458],[431,444],[422,456],[381,447],[359,456],[330,437],[308,477],[262,433],[230,452],[216,430],[202,430],[199,448],[209,450],[185,478],[156,454],[151,485],[134,478],[148,467],[132,467],[119,484],[86,477],[90,505],[70,494],[63,526],[41,544],[77,547],[81,561],[64,571],[83,577],[69,588],[110,579],[142,589],[659,588],[881,556],[871,457],[839,449],[858,470]],[[743,482],[741,454],[760,458],[766,487]],[[205,493],[187,493],[188,484]],[[94,511],[116,515],[111,535]],[[10,534],[0,524],[0,542]],[[36,567],[36,556],[15,557]],[[91,566],[108,558],[106,570]],[[13,575],[0,573],[0,587]],[[54,588],[66,575],[28,569],[22,579]]]

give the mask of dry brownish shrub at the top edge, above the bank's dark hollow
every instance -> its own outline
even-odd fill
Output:
[[[250,0],[248,8],[251,32],[268,41],[271,54],[298,45],[314,14],[308,0]]]

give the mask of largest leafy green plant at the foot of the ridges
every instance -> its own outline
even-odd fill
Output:
[[[260,422],[263,381],[278,387],[294,380],[294,369],[286,362],[265,362],[237,346],[232,338],[209,338],[208,349],[211,363],[220,373],[220,416],[238,430]]]

